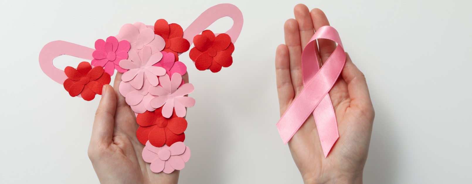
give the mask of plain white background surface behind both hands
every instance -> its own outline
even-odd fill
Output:
[[[223,2],[2,0],[0,183],[98,183],[87,147],[100,97],[68,96],[42,73],[42,46],[65,40],[93,48],[123,24],[160,18],[185,29]],[[376,117],[364,182],[470,182],[472,1],[226,2],[244,15],[233,65],[202,72],[188,52],[180,56],[196,99],[185,131],[192,158],[181,183],[302,183],[275,126],[275,48],[297,3],[324,10],[367,78]],[[210,29],[231,25],[224,18]],[[64,68],[80,61],[61,56],[54,63]]]

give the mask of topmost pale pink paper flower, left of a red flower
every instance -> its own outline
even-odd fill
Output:
[[[131,44],[131,50],[141,53],[143,48],[151,48],[152,53],[164,49],[166,42],[159,35],[154,34],[152,28],[143,23],[125,24],[116,36],[118,40],[127,40]]]

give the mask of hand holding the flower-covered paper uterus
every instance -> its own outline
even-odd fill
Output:
[[[102,184],[177,184],[179,171],[153,173],[144,162],[144,145],[136,138],[135,112],[119,91],[122,73],[115,76],[114,88],[105,85],[95,113],[88,155]],[[188,74],[182,76],[188,82]]]

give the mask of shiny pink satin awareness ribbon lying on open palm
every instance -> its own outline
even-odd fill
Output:
[[[317,39],[333,40],[337,43],[328,60],[320,68],[316,56]],[[320,136],[325,158],[339,138],[337,121],[329,90],[333,87],[346,63],[346,53],[339,33],[331,26],[320,27],[312,36],[302,53],[303,90],[295,98],[287,111],[278,120],[277,128],[284,144],[295,135],[303,122],[313,114]]]

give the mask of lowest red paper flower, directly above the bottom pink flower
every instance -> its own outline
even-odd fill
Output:
[[[175,112],[170,118],[164,118],[162,108],[153,112],[146,111],[137,115],[136,122],[139,124],[136,137],[142,144],[149,140],[153,146],[161,147],[185,140],[187,120],[177,117]]]

